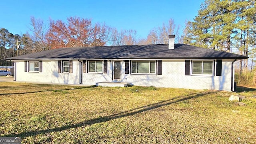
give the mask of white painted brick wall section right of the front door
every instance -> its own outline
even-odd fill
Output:
[[[231,63],[232,60],[222,60],[222,76],[190,76],[185,75],[185,60],[163,60],[162,75],[125,75],[125,77],[134,85],[230,91]]]

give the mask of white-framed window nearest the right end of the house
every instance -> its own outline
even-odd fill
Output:
[[[214,61],[192,61],[192,75],[213,76]]]

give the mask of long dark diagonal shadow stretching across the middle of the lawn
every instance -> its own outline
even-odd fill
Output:
[[[83,121],[83,122],[79,122],[77,124],[70,124],[70,125],[66,125],[66,126],[62,126],[62,127],[58,127],[58,128],[46,129],[46,130],[22,132],[18,135],[17,134],[6,134],[6,135],[4,135],[4,137],[8,137],[8,136],[27,137],[27,136],[36,136],[38,134],[46,134],[46,133],[50,133],[50,132],[60,132],[62,130],[68,130],[70,128],[78,128],[78,127],[81,127],[81,126],[88,126],[88,125],[97,124],[97,123],[101,123],[101,122],[107,122],[107,121],[117,119],[117,118],[131,116],[131,115],[134,115],[134,114],[138,114],[140,112],[146,112],[146,111],[149,111],[149,110],[152,110],[152,109],[155,109],[155,108],[163,107],[163,106],[166,106],[166,105],[171,105],[173,103],[178,103],[180,101],[185,101],[185,100],[192,99],[192,98],[207,96],[207,95],[210,95],[212,93],[216,93],[216,92],[207,91],[207,92],[202,92],[202,93],[192,93],[192,94],[186,95],[184,97],[174,97],[172,99],[168,99],[166,101],[162,101],[162,102],[159,102],[159,103],[154,103],[154,104],[146,105],[144,107],[134,108],[132,110],[120,112],[118,114],[111,114],[109,116],[103,116],[103,117],[94,118],[94,119],[91,119],[91,120],[86,120],[86,121]]]

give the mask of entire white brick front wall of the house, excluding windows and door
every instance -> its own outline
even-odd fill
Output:
[[[81,63],[73,60],[73,73],[58,73],[58,61],[43,61],[42,73],[24,72],[24,61],[17,61],[16,81],[34,81],[44,83],[80,84]],[[216,62],[216,61],[215,61]],[[230,91],[232,60],[222,60],[222,76],[185,75],[185,60],[163,60],[162,75],[125,74],[125,63],[121,61],[121,81],[133,85],[173,87],[185,89],[214,89]],[[82,73],[82,83],[95,85],[98,82],[112,81],[112,64],[108,60],[108,73]],[[215,63],[216,71],[216,63]],[[215,72],[216,73],[216,72]]]

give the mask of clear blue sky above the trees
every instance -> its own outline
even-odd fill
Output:
[[[48,24],[70,16],[90,18],[118,30],[136,30],[138,37],[146,38],[149,31],[174,19],[183,29],[186,20],[192,21],[204,0],[3,0],[0,28],[12,34],[24,34],[30,26],[30,17]]]

